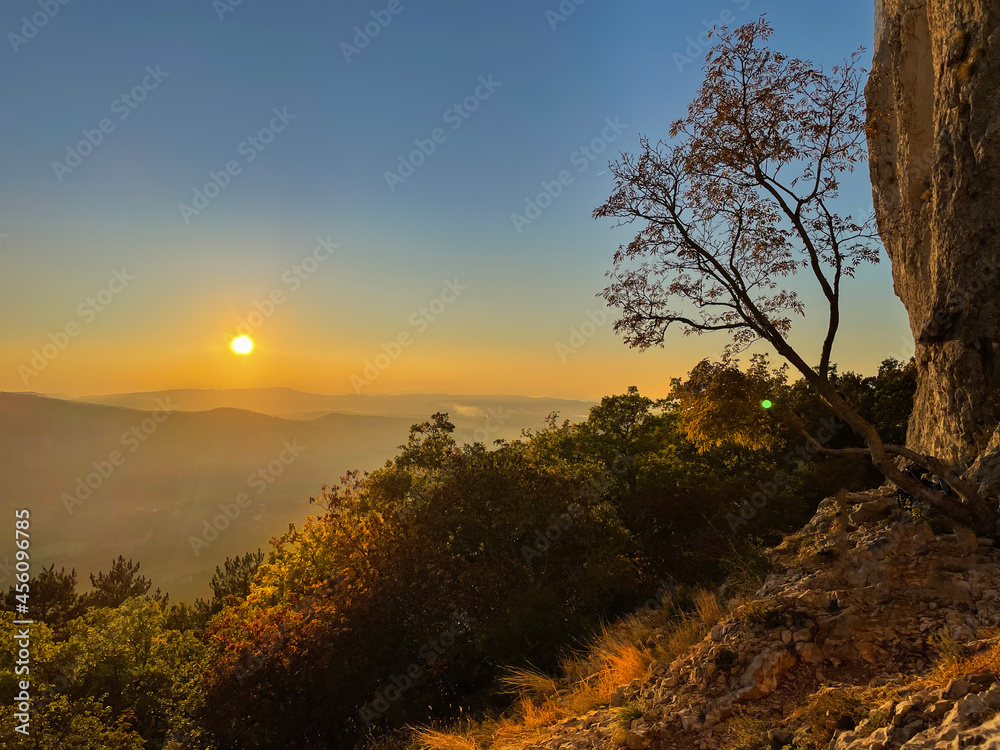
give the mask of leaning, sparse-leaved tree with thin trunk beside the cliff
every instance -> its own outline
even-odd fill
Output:
[[[638,348],[662,346],[672,326],[726,331],[726,358],[769,343],[863,438],[867,448],[849,452],[870,456],[904,492],[993,536],[997,512],[981,488],[934,455],[885,444],[831,380],[843,284],[879,259],[872,217],[837,211],[840,178],[865,160],[865,71],[860,52],[825,72],[770,49],[771,34],[763,19],[721,30],[670,140],[643,138],[638,155],[611,165],[615,189],[594,216],[640,225],[615,254],[603,292],[621,310],[615,329]],[[816,366],[789,339],[792,316],[805,314],[790,288],[802,276],[818,286],[825,308]],[[897,457],[952,491],[904,472]]]

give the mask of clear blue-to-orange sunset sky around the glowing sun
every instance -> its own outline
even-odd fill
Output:
[[[870,47],[861,0],[9,0],[0,390],[665,395],[726,339],[629,350],[597,295],[630,236],[591,213],[703,32],[762,14]],[[887,261],[844,307],[842,369],[912,352]]]

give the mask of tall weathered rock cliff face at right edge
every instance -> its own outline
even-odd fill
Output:
[[[920,373],[911,447],[967,462],[997,423],[1000,2],[877,0],[872,185]]]

